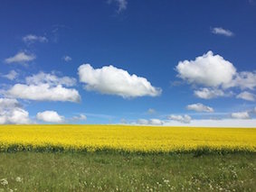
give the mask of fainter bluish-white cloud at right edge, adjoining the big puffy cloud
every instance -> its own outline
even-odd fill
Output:
[[[254,87],[256,87],[256,71],[242,71],[237,73],[232,81],[224,85],[224,88],[229,87],[240,87],[241,89],[248,88],[253,90]]]

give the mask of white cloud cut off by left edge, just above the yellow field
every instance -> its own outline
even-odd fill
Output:
[[[0,124],[31,123],[29,114],[25,111],[16,99],[0,98]]]

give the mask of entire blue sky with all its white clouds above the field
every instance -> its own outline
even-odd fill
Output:
[[[0,4],[1,124],[256,127],[256,1]]]

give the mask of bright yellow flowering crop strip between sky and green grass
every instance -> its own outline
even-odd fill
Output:
[[[256,129],[123,125],[1,125],[0,150],[14,144],[95,151],[256,151]]]

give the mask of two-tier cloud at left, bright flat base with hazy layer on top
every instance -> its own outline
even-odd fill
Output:
[[[80,102],[79,92],[71,87],[76,84],[75,78],[58,78],[43,72],[25,78],[26,84],[15,84],[5,91],[6,96],[37,101],[70,101]],[[66,87],[63,87],[66,86]]]

